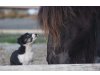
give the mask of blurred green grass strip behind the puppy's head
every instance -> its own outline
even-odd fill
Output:
[[[21,34],[0,34],[0,43],[16,43],[19,36]],[[39,34],[35,43],[47,43],[47,39],[42,34]]]

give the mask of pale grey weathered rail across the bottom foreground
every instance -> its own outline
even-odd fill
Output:
[[[99,71],[100,64],[0,66],[1,71]]]

